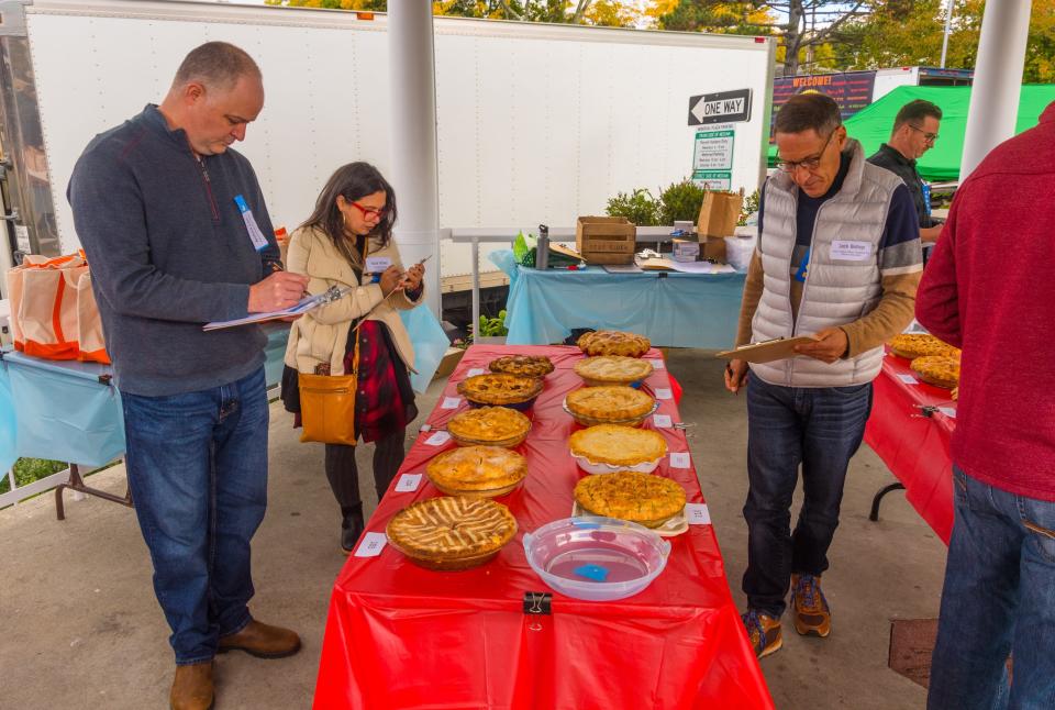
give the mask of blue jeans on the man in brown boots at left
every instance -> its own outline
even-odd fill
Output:
[[[249,540],[267,506],[264,368],[170,397],[122,393],[129,486],[179,665],[249,621]]]

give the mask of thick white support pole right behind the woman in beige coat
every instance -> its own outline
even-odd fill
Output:
[[[436,154],[436,68],[432,3],[400,0],[388,8],[391,64],[391,184],[399,206],[396,241],[407,265],[425,256],[426,302],[440,313],[440,170]]]

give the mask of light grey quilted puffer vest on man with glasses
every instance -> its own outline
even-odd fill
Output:
[[[865,160],[860,143],[849,140],[843,153],[851,156],[842,189],[817,212],[810,243],[798,320],[791,311],[791,255],[796,243],[799,188],[785,173],[766,181],[765,219],[758,252],[765,289],[752,320],[752,341],[793,337],[844,325],[871,312],[882,295],[879,242],[890,199],[901,178]],[[841,244],[835,258],[833,242]],[[853,249],[854,254],[847,254]],[[853,256],[854,258],[845,258]],[[882,348],[831,365],[812,357],[792,357],[752,364],[752,371],[770,385],[786,387],[846,387],[870,382],[882,366]]]

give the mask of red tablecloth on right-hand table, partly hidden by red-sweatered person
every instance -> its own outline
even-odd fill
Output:
[[[904,381],[912,378],[915,384]],[[904,497],[948,544],[953,532],[953,462],[948,443],[956,428],[949,391],[918,381],[909,360],[891,353],[875,380],[875,403],[865,442],[904,485]]]

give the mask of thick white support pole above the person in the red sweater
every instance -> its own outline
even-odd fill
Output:
[[[1014,135],[1031,4],[1030,0],[986,3],[959,162],[960,182],[989,151]]]

